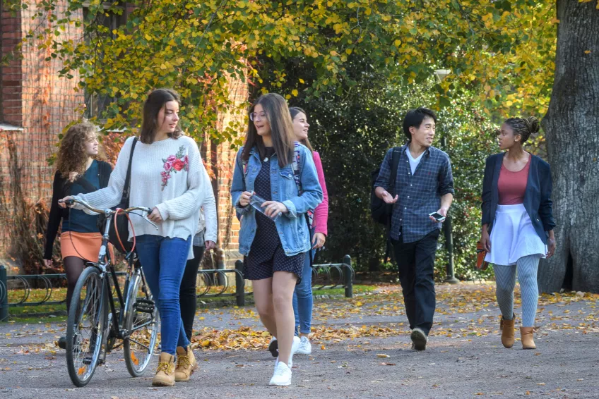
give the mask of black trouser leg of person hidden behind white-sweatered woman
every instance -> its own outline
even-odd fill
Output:
[[[198,269],[202,262],[205,247],[194,247],[194,259],[189,259],[185,264],[185,271],[179,288],[179,307],[181,307],[181,319],[187,339],[191,341],[194,333],[194,318],[196,317],[196,281],[198,281]]]

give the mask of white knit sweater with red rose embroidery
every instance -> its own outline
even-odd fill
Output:
[[[129,154],[134,137],[123,145],[107,188],[77,198],[92,207],[105,209],[116,207],[121,202],[129,165]],[[131,194],[129,205],[157,207],[162,216],[158,231],[141,216],[131,214],[135,235],[160,235],[186,240],[196,233],[200,207],[208,190],[212,190],[210,178],[203,166],[196,142],[190,137],[168,138],[152,144],[138,141],[131,164]],[[76,205],[83,209],[81,205]],[[133,238],[129,226],[129,240]],[[194,257],[189,246],[188,259]]]

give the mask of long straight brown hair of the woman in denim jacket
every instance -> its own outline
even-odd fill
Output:
[[[283,166],[291,163],[293,159],[293,148],[295,146],[295,134],[293,133],[293,123],[291,121],[291,114],[289,113],[287,102],[279,94],[264,94],[250,107],[250,114],[254,112],[254,108],[256,108],[256,105],[258,104],[264,109],[266,119],[271,125],[273,147],[277,154],[279,166],[283,168]],[[249,152],[254,146],[258,149],[260,159],[263,159],[264,156],[266,156],[266,147],[264,146],[262,137],[260,137],[256,131],[254,122],[249,120],[247,125],[247,137],[242,152],[242,159],[244,161],[249,160]]]

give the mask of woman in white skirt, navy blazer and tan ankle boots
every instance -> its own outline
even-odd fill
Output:
[[[502,311],[502,343],[514,345],[516,269],[522,297],[523,349],[535,349],[533,337],[539,299],[539,259],[555,252],[551,168],[523,149],[538,133],[537,118],[509,118],[499,133],[506,151],[487,158],[482,184],[482,236],[485,261],[494,264],[497,302]]]

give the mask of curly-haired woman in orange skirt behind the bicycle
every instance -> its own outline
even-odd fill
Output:
[[[60,252],[66,274],[66,312],[73,290],[86,262],[95,262],[102,245],[98,216],[78,209],[62,209],[58,200],[66,195],[85,194],[108,185],[112,166],[105,161],[97,140],[97,130],[89,122],[77,123],[66,131],[57,157],[57,171],[52,183],[52,204],[48,217],[44,263],[52,266],[52,248],[61,226]],[[66,348],[64,336],[59,347]]]

